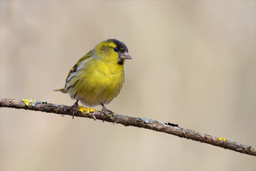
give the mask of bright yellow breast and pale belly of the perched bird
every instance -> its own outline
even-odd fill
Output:
[[[124,83],[123,65],[115,61],[103,61],[94,56],[83,61],[81,70],[74,76],[67,87],[72,98],[84,105],[107,104],[116,97]]]

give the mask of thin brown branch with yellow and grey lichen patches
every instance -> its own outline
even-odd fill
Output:
[[[98,110],[92,108],[84,108],[79,106],[79,110],[74,110],[74,108],[71,108],[67,105],[56,105],[40,100],[0,98],[0,108],[19,108],[25,110],[37,110],[46,113],[56,113],[61,115],[74,115],[83,118],[93,118],[94,120],[103,120],[109,123],[119,123],[124,126],[134,126],[138,128],[155,130],[162,133],[176,135],[180,138],[187,138],[190,140],[204,142],[210,145],[215,145],[217,147],[256,156],[255,147],[242,145],[240,143],[223,138],[213,137],[205,133],[199,133],[195,130],[180,128],[178,125],[173,123],[162,123],[157,120],[147,118],[134,118],[127,115],[120,115],[118,113],[107,113],[105,115],[101,115]]]

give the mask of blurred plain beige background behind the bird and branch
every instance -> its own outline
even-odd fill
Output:
[[[255,26],[255,1],[1,1],[1,98],[73,105],[52,90],[117,38],[132,61],[107,108],[255,147]],[[250,155],[152,130],[12,108],[0,116],[1,170],[256,170]]]

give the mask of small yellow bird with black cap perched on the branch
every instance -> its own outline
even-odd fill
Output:
[[[68,93],[77,100],[72,108],[79,108],[78,102],[89,107],[102,105],[102,113],[119,94],[124,83],[124,61],[132,59],[127,46],[115,38],[97,44],[77,61],[69,71],[64,88],[57,89]],[[73,113],[74,118],[74,113]]]

